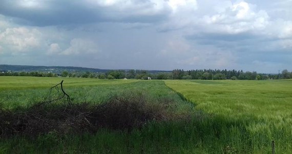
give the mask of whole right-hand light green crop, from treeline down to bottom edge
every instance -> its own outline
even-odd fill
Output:
[[[277,152],[292,151],[292,80],[212,82],[165,81],[197,110],[214,114],[218,139],[226,145],[266,153],[275,140]]]

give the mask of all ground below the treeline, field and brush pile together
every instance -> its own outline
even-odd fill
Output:
[[[0,116],[6,120],[2,128],[30,129],[2,131],[0,153],[270,153],[273,140],[277,153],[292,151],[290,80],[66,78],[72,104],[61,99],[39,106],[59,97],[60,89],[49,89],[63,79],[47,78],[42,85],[43,78],[12,78],[15,85],[27,80],[21,88],[2,79],[0,103],[7,113],[2,115],[19,117]],[[32,132],[41,125],[17,121],[34,115],[57,123],[45,122],[45,130]]]

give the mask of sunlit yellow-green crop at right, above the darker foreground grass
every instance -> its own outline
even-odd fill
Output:
[[[208,113],[242,118],[277,119],[291,115],[292,80],[283,81],[165,81],[166,85]],[[222,83],[222,84],[218,84]],[[182,86],[183,85],[183,86]]]

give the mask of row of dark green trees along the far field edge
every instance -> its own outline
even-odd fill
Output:
[[[174,69],[172,72],[149,73],[147,70],[110,70],[106,73],[98,72],[70,72],[63,71],[61,74],[53,72],[0,72],[1,76],[39,76],[39,77],[70,77],[70,78],[98,78],[98,79],[148,79],[148,76],[157,80],[273,80],[292,79],[292,72],[283,70],[279,74],[257,73],[256,71],[243,72],[242,70],[220,69],[196,69],[184,71]]]

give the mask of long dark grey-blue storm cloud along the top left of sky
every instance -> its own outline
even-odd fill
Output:
[[[135,11],[115,9],[84,1],[9,1],[0,2],[0,14],[15,17],[18,24],[52,26],[100,22],[155,23],[166,19],[168,10],[158,13],[139,14]],[[139,2],[141,4],[146,1]],[[133,4],[135,5],[135,4]],[[145,7],[151,7],[145,5]]]

